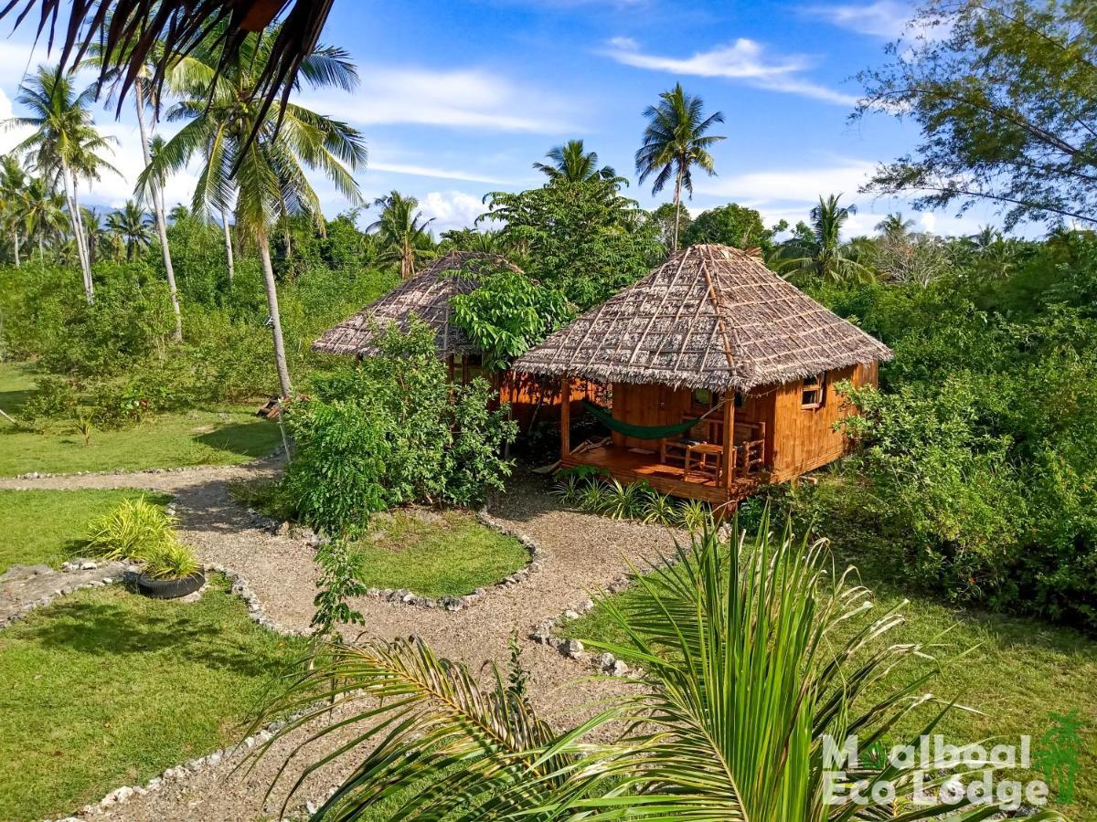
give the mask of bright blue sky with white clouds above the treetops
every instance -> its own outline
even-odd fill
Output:
[[[653,196],[636,183],[633,153],[644,107],[680,81],[726,118],[715,129],[727,138],[713,151],[719,175],[694,176],[694,214],[734,201],[795,221],[819,194],[842,192],[860,208],[852,233],[871,232],[896,208],[924,229],[971,232],[995,221],[989,210],[915,215],[903,202],[857,193],[877,162],[917,140],[911,124],[848,119],[860,91],[852,76],[884,59],[909,9],[898,0],[336,0],[324,41],[351,53],[361,87],[301,98],[363,132],[366,199],[414,194],[438,230],[471,224],[485,192],[539,184],[531,163],[575,137],[632,180],[642,205],[668,201],[669,191]],[[23,69],[44,58],[26,39],[0,41],[0,117]],[[83,197],[112,206],[139,171],[139,144],[131,112],[98,121],[118,140],[123,175]],[[15,137],[3,135],[0,149]],[[328,213],[346,207],[329,185],[317,187]],[[169,202],[189,201],[190,190],[186,175],[173,180]]]

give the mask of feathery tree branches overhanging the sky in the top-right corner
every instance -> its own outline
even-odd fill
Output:
[[[930,0],[890,61],[863,71],[869,112],[923,140],[870,187],[916,206],[991,201],[1021,220],[1097,222],[1097,14],[1092,0]]]

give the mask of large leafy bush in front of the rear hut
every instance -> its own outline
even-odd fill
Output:
[[[425,501],[466,505],[502,488],[516,432],[485,380],[453,386],[429,328],[378,335],[380,356],[317,380],[290,406],[296,450],[285,488],[301,517],[341,536],[370,514]]]

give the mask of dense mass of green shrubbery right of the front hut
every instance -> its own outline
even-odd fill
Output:
[[[905,578],[954,602],[1093,630],[1097,320],[1084,300],[1097,242],[1068,246],[1009,247],[995,276],[984,255],[926,287],[817,289],[896,356],[882,390],[850,392],[864,483],[812,506],[832,529],[857,522],[860,541],[898,549]]]

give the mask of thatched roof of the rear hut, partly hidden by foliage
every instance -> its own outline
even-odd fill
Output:
[[[451,251],[443,254],[384,297],[325,331],[313,343],[313,347],[331,354],[371,356],[376,354],[376,349],[371,344],[374,328],[385,329],[396,323],[402,331],[407,331],[411,316],[416,315],[434,329],[440,356],[460,356],[475,352],[467,336],[452,321],[450,297],[467,294],[479,285],[477,269],[499,266],[520,271],[498,254],[476,251]]]

